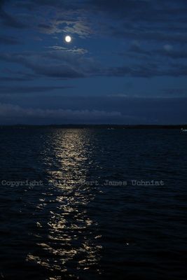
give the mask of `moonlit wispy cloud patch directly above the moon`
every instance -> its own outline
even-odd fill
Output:
[[[88,12],[83,9],[82,1],[18,1],[14,7],[26,9],[28,15],[33,15],[32,29],[42,34],[66,34],[78,35],[87,38],[93,34]],[[43,16],[45,9],[45,16]],[[37,11],[37,17],[35,13]],[[53,15],[55,13],[55,16]]]

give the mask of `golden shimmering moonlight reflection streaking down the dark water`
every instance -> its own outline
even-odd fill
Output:
[[[43,158],[50,178],[50,189],[43,195],[48,198],[37,206],[40,216],[48,212],[48,221],[37,221],[39,253],[29,253],[27,260],[74,275],[92,267],[99,273],[97,263],[102,246],[97,239],[101,236],[95,233],[97,223],[88,213],[95,192],[90,186],[77,183],[87,178],[87,161],[92,152],[88,149],[88,137],[80,131],[57,133],[52,142],[53,153]]]

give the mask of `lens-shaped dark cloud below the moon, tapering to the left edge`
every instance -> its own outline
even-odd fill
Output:
[[[46,52],[1,53],[0,59],[18,63],[32,70],[38,76],[50,78],[84,78],[92,76],[99,67],[90,57],[84,57],[81,50],[51,50]]]

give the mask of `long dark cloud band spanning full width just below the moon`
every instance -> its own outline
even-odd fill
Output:
[[[185,64],[160,64],[155,59],[153,62],[144,60],[141,63],[131,63],[127,66],[104,67],[88,57],[64,51],[1,53],[0,59],[22,64],[38,76],[61,79],[88,78],[90,76],[151,78],[155,76],[186,76],[187,74]]]

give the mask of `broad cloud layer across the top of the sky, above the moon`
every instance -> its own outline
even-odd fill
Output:
[[[71,32],[81,38],[97,34],[128,40],[160,41],[166,45],[187,43],[183,26],[187,23],[187,8],[182,0],[30,0],[8,3],[15,10],[26,9],[33,21],[32,28],[43,34]],[[48,17],[43,18],[43,9]],[[34,15],[36,10],[37,18]],[[24,27],[17,16],[18,13],[14,17],[2,13],[6,25]]]

